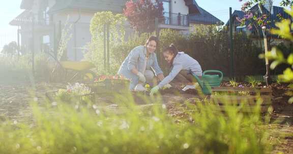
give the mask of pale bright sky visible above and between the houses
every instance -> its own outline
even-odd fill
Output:
[[[239,0],[196,0],[196,2],[198,6],[223,22],[227,22],[229,19],[229,7],[232,8],[232,11],[240,10],[242,4]],[[281,0],[274,0],[273,5],[279,6],[280,2]],[[17,40],[17,27],[9,25],[9,22],[23,11],[20,9],[20,3],[21,0],[9,0],[3,1],[0,5],[0,50],[5,44]]]

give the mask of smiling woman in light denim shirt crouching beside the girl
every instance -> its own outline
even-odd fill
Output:
[[[144,91],[143,84],[154,84],[154,72],[160,81],[164,79],[163,71],[159,67],[155,50],[158,38],[151,36],[144,46],[138,46],[131,50],[126,57],[118,74],[130,80],[131,91]]]

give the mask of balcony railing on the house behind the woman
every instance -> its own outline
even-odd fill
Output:
[[[188,15],[181,13],[168,13],[164,12],[164,19],[160,20],[160,24],[176,25],[176,26],[189,26]]]

